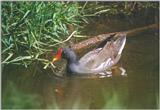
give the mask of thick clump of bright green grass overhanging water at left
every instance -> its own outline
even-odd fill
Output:
[[[78,32],[84,20],[79,8],[77,2],[3,1],[2,64],[51,64],[42,56]]]

